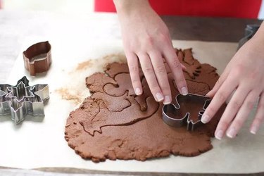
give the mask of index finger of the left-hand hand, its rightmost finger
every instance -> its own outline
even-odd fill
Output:
[[[177,89],[179,90],[180,94],[187,95],[187,83],[185,77],[182,72],[182,65],[177,58],[175,50],[172,47],[166,47],[165,52],[163,53],[165,60],[167,61],[170,70],[172,71],[172,75],[175,79]]]

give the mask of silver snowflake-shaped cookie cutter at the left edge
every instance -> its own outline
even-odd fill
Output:
[[[49,99],[48,84],[29,85],[27,77],[18,80],[15,86],[0,84],[0,116],[11,114],[18,125],[26,115],[44,116],[44,102]]]

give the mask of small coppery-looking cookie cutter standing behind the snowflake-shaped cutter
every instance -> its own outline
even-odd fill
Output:
[[[44,73],[51,65],[51,44],[48,41],[33,44],[23,52],[25,68],[31,76]]]

